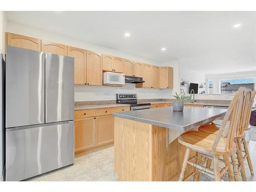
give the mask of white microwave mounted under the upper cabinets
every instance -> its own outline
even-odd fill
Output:
[[[103,84],[124,84],[125,75],[122,73],[104,72]]]

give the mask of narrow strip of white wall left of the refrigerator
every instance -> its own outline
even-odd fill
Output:
[[[6,24],[7,19],[5,12],[0,11],[0,54],[5,54],[5,30],[6,30]],[[2,59],[2,58],[0,58]],[[2,63],[2,62],[0,62]],[[3,130],[4,130],[4,124],[3,124],[3,82],[2,82],[2,66],[0,66],[0,181],[3,181]]]

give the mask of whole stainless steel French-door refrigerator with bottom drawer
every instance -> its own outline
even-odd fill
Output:
[[[6,181],[74,163],[74,58],[7,46]]]

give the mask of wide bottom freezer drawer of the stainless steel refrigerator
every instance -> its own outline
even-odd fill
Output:
[[[20,181],[74,163],[74,122],[6,131],[6,181]]]

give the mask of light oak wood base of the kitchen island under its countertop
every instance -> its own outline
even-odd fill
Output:
[[[120,117],[114,127],[119,181],[178,181],[185,147],[178,139],[166,147],[166,128]],[[185,175],[193,171],[187,166]]]

